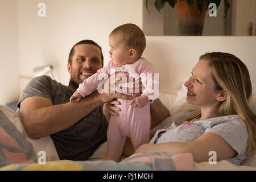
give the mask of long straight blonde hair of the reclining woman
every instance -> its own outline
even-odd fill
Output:
[[[226,90],[228,97],[216,110],[218,115],[238,114],[246,124],[248,142],[246,154],[255,153],[256,115],[251,111],[249,101],[252,86],[249,71],[238,57],[223,52],[210,52],[200,56],[199,60],[209,61],[209,68],[216,90]],[[197,113],[196,116],[201,113]],[[194,117],[195,118],[195,115]]]

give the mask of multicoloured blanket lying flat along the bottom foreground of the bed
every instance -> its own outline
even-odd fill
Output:
[[[127,158],[123,162],[114,162],[112,160],[95,161],[71,161],[60,160],[46,162],[46,164],[10,164],[1,170],[29,170],[29,171],[175,171],[191,170],[193,166],[192,154],[138,154]]]

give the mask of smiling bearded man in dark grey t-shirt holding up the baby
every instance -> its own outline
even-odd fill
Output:
[[[99,94],[96,90],[80,102],[69,102],[79,84],[102,67],[101,47],[92,40],[82,40],[69,54],[68,86],[49,76],[40,76],[31,80],[20,96],[18,107],[27,134],[31,138],[50,135],[60,159],[88,159],[106,140],[108,123],[102,114],[102,104],[114,98],[132,98],[119,93]]]

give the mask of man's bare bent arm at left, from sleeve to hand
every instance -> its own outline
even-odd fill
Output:
[[[46,97],[28,97],[20,104],[20,116],[31,138],[44,137],[74,125],[104,102],[131,99],[124,94],[99,94],[97,90],[80,102],[53,105]]]

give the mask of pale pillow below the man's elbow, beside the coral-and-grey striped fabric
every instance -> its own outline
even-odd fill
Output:
[[[59,156],[57,155],[56,148],[54,146],[54,143],[51,139],[51,137],[40,137],[38,139],[31,139],[28,137],[26,131],[24,130],[22,119],[20,118],[20,114],[16,113],[13,109],[10,109],[9,107],[0,105],[0,110],[5,114],[5,116],[9,119],[10,122],[14,124],[16,129],[20,131],[20,133],[23,134],[23,136],[30,142],[33,146],[35,156],[39,158],[41,155],[38,155],[39,151],[45,151],[46,152],[46,161],[49,160],[60,160]],[[1,118],[0,118],[1,121]]]

